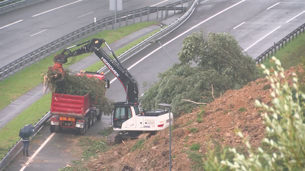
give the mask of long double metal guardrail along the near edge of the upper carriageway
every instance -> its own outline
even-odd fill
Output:
[[[189,1],[190,0],[181,0],[162,7],[142,7],[119,13],[116,15],[116,26],[120,27],[122,25],[128,25],[135,22],[142,22],[143,20],[150,20],[152,16],[155,17],[156,20],[167,18],[176,14],[178,11],[184,12],[186,8],[183,7],[183,3],[189,3]],[[169,13],[169,11],[173,12]],[[114,23],[114,15],[102,18],[24,55],[0,68],[0,80],[70,45],[71,43],[80,40],[81,38],[85,38],[102,29],[113,29]]]

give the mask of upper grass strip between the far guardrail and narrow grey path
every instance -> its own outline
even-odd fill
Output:
[[[155,24],[156,21],[149,22],[140,22],[127,26],[117,28],[116,30],[102,30],[94,35],[90,35],[87,38],[84,38],[78,42],[83,42],[89,40],[93,37],[104,38],[108,44],[136,31],[141,28]],[[72,48],[74,50],[76,48]],[[61,50],[55,52],[57,54]],[[0,109],[8,105],[11,101],[15,100],[20,95],[24,94],[31,88],[37,86],[42,82],[41,73],[47,71],[47,67],[53,64],[53,55],[51,54],[44,59],[39,60],[38,62],[14,73],[13,75],[0,81]],[[82,54],[75,58],[75,62],[88,56],[90,54]],[[64,67],[67,67],[67,64],[64,64]]]

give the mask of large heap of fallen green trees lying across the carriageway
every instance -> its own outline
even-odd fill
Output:
[[[183,40],[178,57],[181,62],[160,73],[159,81],[144,92],[146,99],[171,104],[175,115],[197,105],[183,99],[212,101],[211,85],[217,97],[257,78],[255,62],[227,33],[208,33],[206,37],[202,31],[194,32]]]

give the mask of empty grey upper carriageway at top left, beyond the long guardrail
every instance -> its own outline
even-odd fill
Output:
[[[179,0],[123,0],[122,11]],[[0,67],[88,25],[114,15],[109,0],[45,0],[0,14]]]

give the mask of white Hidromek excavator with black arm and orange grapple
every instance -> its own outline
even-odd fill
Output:
[[[74,51],[69,50],[69,48],[82,44],[85,45]],[[101,47],[102,44],[105,44],[105,47],[111,52],[112,56]],[[104,39],[93,38],[83,43],[70,46],[58,55],[55,55],[53,58],[54,65],[49,67],[49,70],[56,73],[54,75],[56,81],[64,79],[65,72],[62,68],[62,64],[67,62],[68,57],[74,57],[88,52],[95,53],[110,72],[119,80],[126,92],[125,101],[114,103],[112,115],[112,126],[114,131],[107,136],[108,143],[120,142],[126,138],[138,138],[142,132],[145,132],[146,135],[150,135],[155,131],[168,127],[169,122],[172,124],[173,114],[171,112],[166,109],[155,109],[154,102],[150,102],[150,100],[147,102],[147,100],[139,99],[137,80],[121,64]],[[99,75],[97,72],[84,72],[84,74],[86,74],[87,77]],[[106,81],[105,86],[109,87],[109,81]],[[147,103],[149,105],[145,108]],[[146,111],[147,108],[148,110]]]

